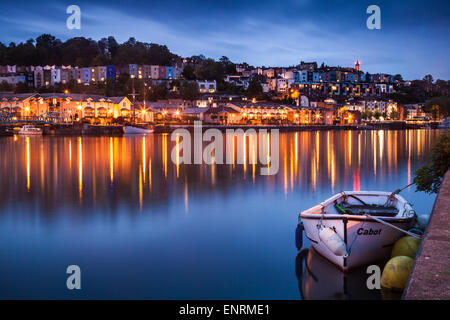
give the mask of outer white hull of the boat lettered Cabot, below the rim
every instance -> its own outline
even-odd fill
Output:
[[[300,218],[305,228],[305,236],[314,249],[344,271],[388,257],[394,243],[404,236],[401,231],[365,216],[327,217],[325,215],[321,221],[321,216],[310,217],[300,214]],[[412,217],[384,218],[383,220],[403,230],[410,229],[414,224]],[[320,240],[317,228],[320,223],[336,231],[346,245],[348,256],[335,255]]]

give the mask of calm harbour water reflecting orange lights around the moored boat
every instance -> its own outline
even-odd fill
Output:
[[[170,135],[0,138],[0,298],[299,299],[298,212],[408,184],[438,135],[280,134],[274,176],[177,166]],[[434,196],[402,195],[430,213]],[[66,288],[71,264],[82,290]]]

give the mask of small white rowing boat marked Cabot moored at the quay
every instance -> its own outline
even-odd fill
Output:
[[[299,214],[296,245],[304,228],[318,253],[348,270],[386,258],[415,222],[415,211],[395,192],[345,191]]]

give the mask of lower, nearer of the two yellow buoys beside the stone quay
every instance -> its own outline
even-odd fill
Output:
[[[381,286],[392,290],[405,289],[414,260],[406,256],[394,257],[384,266]]]

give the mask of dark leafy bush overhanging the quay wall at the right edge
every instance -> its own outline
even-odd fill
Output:
[[[431,151],[431,162],[415,171],[416,191],[437,193],[450,167],[450,130],[439,136]]]

